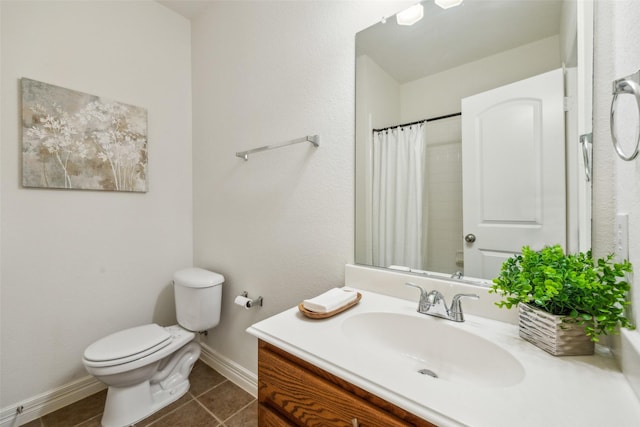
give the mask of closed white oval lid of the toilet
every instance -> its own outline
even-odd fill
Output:
[[[169,345],[170,338],[171,334],[155,323],[136,326],[91,344],[85,350],[84,358],[92,362],[126,363],[155,353]]]

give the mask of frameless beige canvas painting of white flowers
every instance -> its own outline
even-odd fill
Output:
[[[147,111],[23,78],[22,185],[147,191]]]

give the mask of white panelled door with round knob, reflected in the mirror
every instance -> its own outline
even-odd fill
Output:
[[[465,276],[524,245],[566,247],[562,70],[462,100]]]

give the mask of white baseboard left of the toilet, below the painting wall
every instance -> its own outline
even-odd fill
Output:
[[[0,409],[0,427],[17,427],[91,396],[106,386],[86,376],[62,387]],[[22,408],[21,410],[19,408]]]

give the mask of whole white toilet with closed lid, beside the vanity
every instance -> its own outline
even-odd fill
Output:
[[[125,329],[91,344],[82,363],[109,386],[104,427],[123,427],[148,417],[189,390],[200,357],[196,332],[220,321],[221,274],[189,268],[173,276],[178,325]]]

